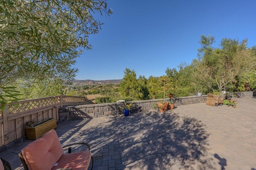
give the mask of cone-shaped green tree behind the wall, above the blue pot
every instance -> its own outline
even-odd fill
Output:
[[[131,97],[135,100],[143,99],[142,87],[136,79],[134,70],[126,68],[123,81],[120,83],[119,91],[123,97]]]

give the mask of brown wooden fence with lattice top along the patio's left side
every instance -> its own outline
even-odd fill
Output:
[[[0,111],[0,146],[25,136],[26,122],[48,118],[59,119],[58,109],[62,106],[93,104],[85,97],[52,96],[11,103]]]

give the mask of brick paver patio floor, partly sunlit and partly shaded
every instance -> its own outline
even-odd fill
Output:
[[[233,107],[205,103],[165,113],[62,122],[62,144],[88,142],[94,170],[253,170],[256,168],[256,98]],[[12,169],[23,169],[17,153],[28,142],[0,153]],[[72,151],[81,150],[79,146]]]

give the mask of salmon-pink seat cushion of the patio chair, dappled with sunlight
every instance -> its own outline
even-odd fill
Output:
[[[90,164],[92,152],[74,152],[70,154],[63,154],[58,160],[58,165],[54,166],[52,170],[60,168],[70,168],[72,170],[87,170]]]

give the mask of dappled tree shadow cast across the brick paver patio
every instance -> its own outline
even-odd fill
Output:
[[[128,117],[108,117],[78,133],[88,139],[95,166],[124,169],[215,169],[218,162],[208,155],[205,125],[172,111],[150,111]],[[89,141],[90,139],[90,141]]]

